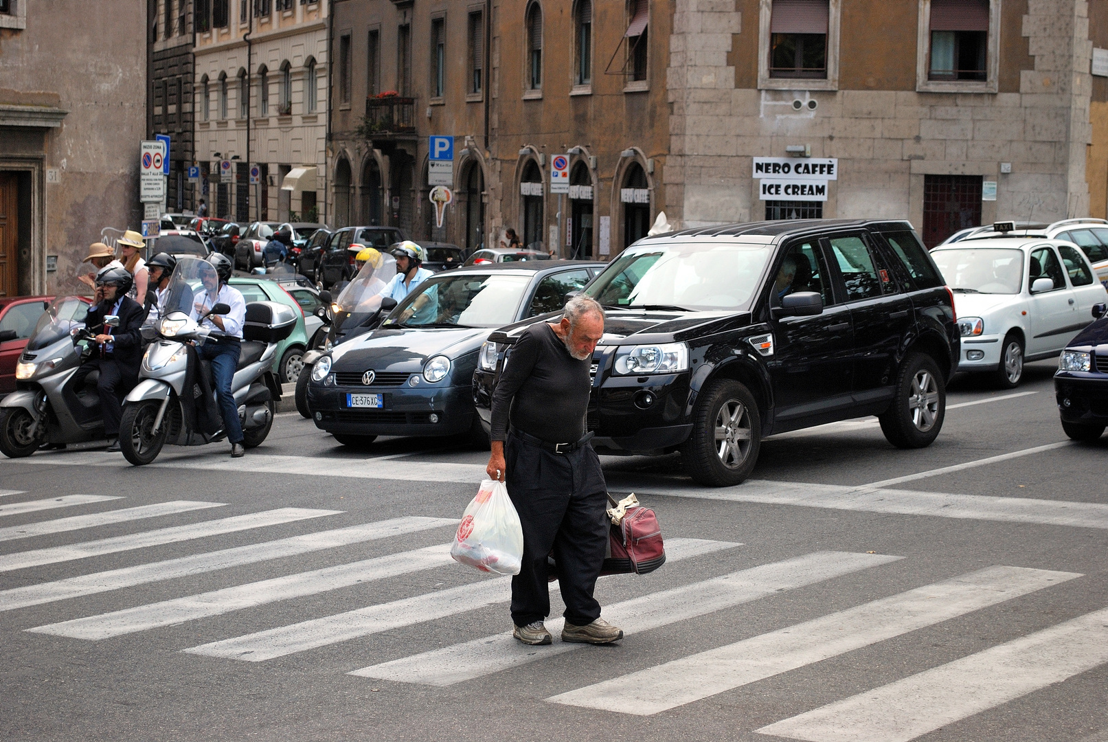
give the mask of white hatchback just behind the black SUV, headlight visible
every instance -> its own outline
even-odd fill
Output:
[[[1019,383],[1024,361],[1057,355],[1108,300],[1085,255],[1063,240],[975,235],[931,257],[954,292],[957,370],[991,372],[1002,388]]]

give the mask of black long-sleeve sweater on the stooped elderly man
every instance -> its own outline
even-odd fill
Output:
[[[492,440],[507,437],[507,422],[550,443],[585,434],[593,359],[576,360],[547,322],[520,336],[492,395]]]

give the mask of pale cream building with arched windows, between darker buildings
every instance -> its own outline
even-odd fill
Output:
[[[239,223],[324,220],[329,3],[194,2],[198,197]]]

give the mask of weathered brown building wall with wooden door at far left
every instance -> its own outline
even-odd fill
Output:
[[[75,270],[101,229],[142,220],[145,6],[127,13],[79,0],[3,8],[0,296],[84,292]]]

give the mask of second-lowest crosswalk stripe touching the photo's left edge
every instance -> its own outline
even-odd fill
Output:
[[[86,557],[100,556],[102,554],[115,554],[116,552],[129,552],[131,549],[145,548],[147,546],[158,546],[162,544],[176,544],[193,538],[215,536],[217,534],[229,534],[236,530],[247,530],[249,528],[261,528],[263,526],[274,526],[294,521],[305,521],[318,518],[324,515],[337,515],[341,511],[318,511],[305,507],[281,507],[275,511],[264,511],[261,513],[249,513],[247,515],[235,515],[229,518],[218,521],[205,521],[186,526],[171,526],[156,530],[146,530],[126,536],[115,536],[113,538],[101,538],[94,542],[71,544],[69,546],[53,546],[30,552],[17,552],[0,556],[0,571],[11,571],[12,569],[23,569],[25,567],[39,567],[59,561],[71,561],[73,559],[84,559]]]

